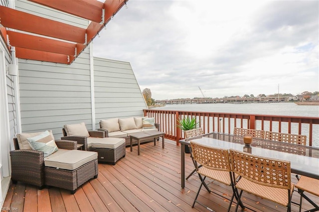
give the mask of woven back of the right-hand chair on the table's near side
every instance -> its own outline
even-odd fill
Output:
[[[230,149],[233,173],[254,183],[281,189],[291,189],[290,161],[261,157]]]

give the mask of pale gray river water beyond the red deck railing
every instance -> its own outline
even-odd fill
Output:
[[[154,109],[319,117],[319,106],[299,106],[295,103],[184,104],[166,105],[163,107],[155,107]],[[227,119],[225,121],[228,122]],[[265,130],[269,130],[266,125],[265,122]],[[256,128],[261,128],[261,123],[259,121],[256,122]],[[278,130],[276,122],[273,123],[272,130]],[[285,122],[282,123],[282,132],[288,133],[288,124]],[[298,134],[298,123],[292,123],[291,133]],[[302,134],[307,135],[308,139],[309,124],[302,125]],[[319,147],[319,124],[313,125],[313,146]]]

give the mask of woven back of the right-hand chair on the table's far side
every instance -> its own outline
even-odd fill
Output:
[[[266,131],[265,139],[272,141],[281,141],[285,143],[307,145],[307,135]]]

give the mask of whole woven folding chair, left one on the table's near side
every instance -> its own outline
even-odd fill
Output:
[[[198,192],[195,196],[192,208],[194,208],[195,203],[198,203],[199,205],[212,211],[203,203],[200,203],[197,201],[197,197],[199,195],[201,187],[204,184],[206,177],[208,177],[214,181],[218,181],[222,184],[232,187],[233,195],[231,197],[231,200],[228,206],[228,212],[229,212],[231,205],[233,203],[234,197],[236,198],[236,200],[238,199],[238,192],[236,188],[234,187],[234,179],[237,179],[238,175],[237,174],[232,175],[231,173],[228,149],[205,146],[205,145],[196,143],[194,141],[190,141],[190,145],[191,145],[191,149],[192,149],[192,153],[193,153],[193,157],[195,161],[202,165],[200,168],[198,168],[198,166],[196,165],[196,171],[198,175],[204,176],[198,188]],[[208,192],[211,193],[213,191],[209,190]],[[242,204],[241,206],[243,207]]]

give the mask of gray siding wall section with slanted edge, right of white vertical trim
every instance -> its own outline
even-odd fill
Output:
[[[96,128],[101,119],[143,116],[147,108],[131,64],[94,58]]]

